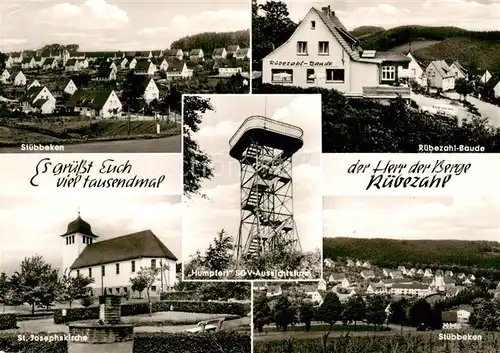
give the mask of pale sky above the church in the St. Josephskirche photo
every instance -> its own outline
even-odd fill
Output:
[[[181,259],[181,197],[0,197],[0,272],[11,274],[25,257],[42,255],[62,266],[63,239],[78,216],[98,240],[150,229]]]

